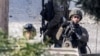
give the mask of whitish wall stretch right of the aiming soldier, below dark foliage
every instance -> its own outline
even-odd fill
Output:
[[[90,17],[89,15],[85,15],[83,20],[80,23],[83,27],[85,27],[89,33],[89,42],[88,45],[91,49],[92,53],[100,53],[100,22],[97,23],[94,21],[94,17]]]

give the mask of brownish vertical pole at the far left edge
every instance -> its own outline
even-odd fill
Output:
[[[8,33],[9,0],[0,0],[0,28]]]

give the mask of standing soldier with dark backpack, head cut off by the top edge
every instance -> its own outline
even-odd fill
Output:
[[[47,40],[46,36],[48,36],[51,39],[50,43],[55,44],[55,47],[61,47],[61,44],[59,44],[61,42],[56,39],[56,33],[62,24],[62,17],[68,11],[69,5],[67,2],[68,0],[48,0],[48,3],[45,5],[45,11],[42,12],[48,21],[44,42]]]

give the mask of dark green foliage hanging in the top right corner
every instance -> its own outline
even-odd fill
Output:
[[[90,15],[94,15],[96,21],[100,21],[100,0],[78,0],[76,5]]]

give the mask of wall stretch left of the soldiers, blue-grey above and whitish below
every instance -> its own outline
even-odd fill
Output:
[[[21,37],[23,26],[27,23],[32,23],[39,32],[41,1],[9,0],[9,36]]]

